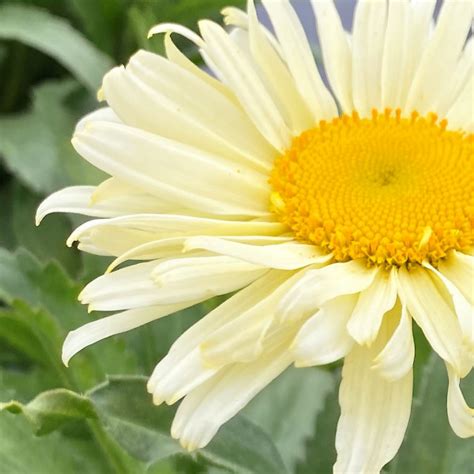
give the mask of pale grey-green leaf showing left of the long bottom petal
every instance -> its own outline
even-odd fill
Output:
[[[334,386],[335,378],[325,370],[292,367],[243,410],[272,438],[290,471],[304,459],[304,443]]]

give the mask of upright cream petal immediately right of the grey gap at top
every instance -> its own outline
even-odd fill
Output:
[[[333,0],[311,0],[318,25],[324,67],[342,110],[351,113],[352,52]]]

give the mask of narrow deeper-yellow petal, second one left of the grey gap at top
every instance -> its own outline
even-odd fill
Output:
[[[259,23],[253,0],[248,3],[248,31],[252,57],[265,75],[268,87],[287,111],[292,133],[297,135],[311,128],[311,113],[288,68],[270,42],[268,32]]]

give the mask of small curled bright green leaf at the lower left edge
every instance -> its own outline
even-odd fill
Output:
[[[62,388],[40,393],[27,405],[17,401],[1,403],[2,410],[22,413],[33,425],[36,435],[51,433],[70,421],[96,417],[88,398]]]

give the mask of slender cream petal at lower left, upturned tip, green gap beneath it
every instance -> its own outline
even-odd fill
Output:
[[[173,305],[150,306],[140,309],[131,309],[122,313],[113,314],[84,324],[78,329],[71,331],[63,344],[62,360],[68,366],[69,361],[82,349],[102,341],[110,336],[121,334],[138,328],[155,319],[168,316],[189,306],[199,303],[201,300],[188,301]]]

